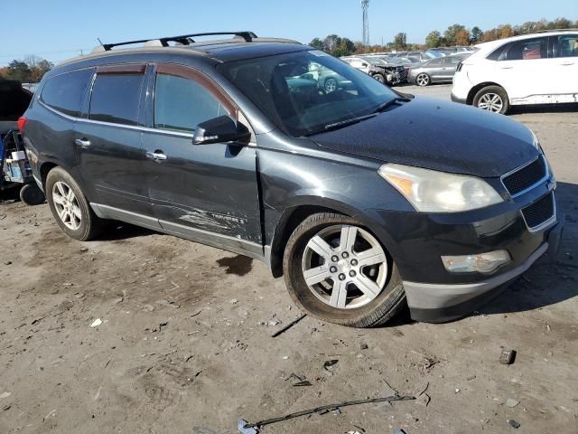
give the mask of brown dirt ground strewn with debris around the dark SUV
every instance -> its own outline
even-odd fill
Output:
[[[447,98],[449,88],[425,92]],[[513,118],[554,166],[563,246],[555,263],[540,259],[491,306],[449,324],[405,315],[359,330],[305,317],[273,338],[299,313],[261,263],[127,226],[81,243],[45,204],[0,205],[0,432],[233,433],[240,418],[429,383],[428,406],[360,405],[262,432],[575,434],[578,114]],[[515,363],[498,362],[501,347],[517,350]],[[328,371],[327,360],[339,362]],[[294,387],[292,373],[312,385]]]

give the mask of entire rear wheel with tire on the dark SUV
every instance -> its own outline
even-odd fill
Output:
[[[103,221],[92,211],[79,184],[68,172],[61,167],[53,168],[46,177],[44,190],[52,215],[64,233],[79,241],[93,240],[98,235]]]

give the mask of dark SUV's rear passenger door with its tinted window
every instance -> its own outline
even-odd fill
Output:
[[[151,215],[144,150],[144,64],[98,67],[87,116],[75,126],[79,169],[94,203]]]

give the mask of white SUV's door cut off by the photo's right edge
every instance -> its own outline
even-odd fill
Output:
[[[553,48],[554,101],[576,102],[578,94],[578,33],[550,36]]]

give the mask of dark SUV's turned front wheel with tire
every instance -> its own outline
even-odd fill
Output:
[[[353,247],[346,245],[342,249],[340,240],[344,233],[354,234],[344,237],[348,240],[346,244]],[[318,244],[319,239],[326,244]],[[326,260],[313,250],[319,250],[319,246],[331,248],[323,250],[327,253]],[[350,253],[344,256],[343,251]],[[368,256],[363,256],[364,253]],[[322,212],[307,217],[287,241],[283,269],[285,284],[295,305],[322,321],[353,327],[381,325],[406,304],[402,280],[387,250],[360,222],[345,215]],[[307,271],[308,281],[318,283],[308,284],[304,274]],[[325,275],[328,277],[320,278]],[[366,290],[360,290],[356,281]],[[343,288],[344,292],[335,292],[333,288]],[[334,305],[340,306],[331,306],[334,301]]]

